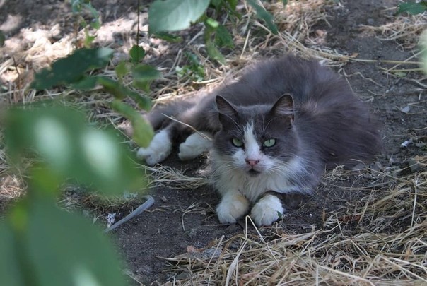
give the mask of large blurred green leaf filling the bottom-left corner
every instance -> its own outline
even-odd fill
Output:
[[[16,205],[27,205],[24,230],[15,230],[13,220],[1,223],[1,285],[127,285],[102,232],[59,210],[52,198],[34,195]]]

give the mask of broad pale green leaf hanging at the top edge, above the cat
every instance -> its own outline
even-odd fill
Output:
[[[155,34],[187,29],[208,6],[209,0],[156,0],[148,9],[148,30]]]

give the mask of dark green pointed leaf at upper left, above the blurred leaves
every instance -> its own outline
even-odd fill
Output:
[[[31,88],[45,90],[81,81],[86,71],[106,66],[112,53],[113,50],[107,48],[77,49],[73,54],[55,61],[51,68],[43,68],[36,73]]]

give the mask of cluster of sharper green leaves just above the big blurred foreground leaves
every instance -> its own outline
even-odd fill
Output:
[[[66,56],[64,59],[55,61],[51,68],[44,68],[35,74],[35,81],[31,85],[37,90],[49,89],[57,85],[71,85],[72,88],[80,90],[90,90],[95,85],[102,85],[110,94],[116,97],[111,107],[124,117],[129,119],[134,126],[139,126],[138,132],[134,133],[134,141],[146,146],[151,141],[153,129],[146,123],[133,107],[127,103],[120,102],[126,97],[131,97],[141,109],[150,109],[151,100],[146,95],[141,95],[131,90],[122,83],[122,78],[129,72],[134,76],[134,85],[145,92],[149,90],[149,84],[153,79],[160,76],[160,73],[153,66],[138,64],[144,57],[144,49],[131,49],[131,62],[120,63],[116,68],[119,81],[112,80],[105,76],[89,75],[88,71],[93,68],[105,66],[111,59],[112,49],[77,49],[73,54]],[[120,103],[119,103],[120,102]]]

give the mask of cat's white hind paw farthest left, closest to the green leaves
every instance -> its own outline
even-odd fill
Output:
[[[136,157],[146,161],[148,165],[153,166],[165,160],[166,157],[169,156],[171,150],[172,142],[170,142],[168,131],[163,130],[153,137],[153,140],[147,148],[139,148]]]

